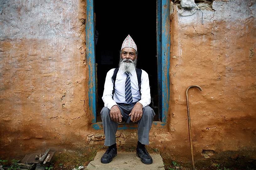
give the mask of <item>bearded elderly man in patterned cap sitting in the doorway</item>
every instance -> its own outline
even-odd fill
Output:
[[[109,146],[101,163],[110,163],[117,156],[116,132],[118,122],[138,123],[136,154],[141,162],[151,164],[151,156],[145,148],[149,144],[149,130],[155,113],[150,104],[149,76],[136,68],[137,46],[128,35],[123,41],[119,68],[107,72],[102,100],[101,118],[105,134],[105,146]]]

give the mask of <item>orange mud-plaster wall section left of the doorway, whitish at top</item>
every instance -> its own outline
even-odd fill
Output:
[[[77,148],[88,129],[85,2],[0,2],[0,155]]]

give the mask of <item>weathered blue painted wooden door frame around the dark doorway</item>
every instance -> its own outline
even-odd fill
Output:
[[[167,121],[170,98],[170,0],[157,0],[157,61],[159,120],[153,128],[164,128]],[[89,112],[94,129],[103,129],[102,122],[96,122],[96,72],[94,46],[93,0],[86,0],[86,58],[89,67]],[[120,123],[118,129],[136,129],[137,124]]]

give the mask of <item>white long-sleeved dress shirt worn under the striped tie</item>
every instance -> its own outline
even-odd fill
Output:
[[[104,85],[104,92],[102,96],[102,100],[104,102],[104,106],[111,109],[112,106],[117,105],[117,103],[127,103],[125,101],[125,80],[126,74],[118,70],[117,78],[115,81],[115,93],[112,99],[112,90],[113,90],[113,82],[112,76],[114,74],[115,68],[112,68],[107,72],[105,85]],[[141,73],[141,96],[139,93],[138,87],[138,79],[136,71],[133,70],[129,73],[131,79],[131,88],[132,88],[132,95],[133,95],[133,103],[139,102],[142,104],[143,108],[148,106],[151,102],[150,100],[150,88],[149,88],[149,75],[144,70]]]

